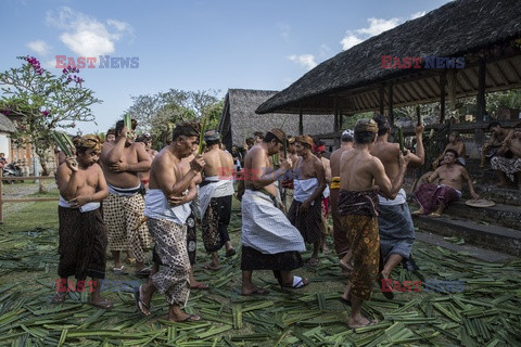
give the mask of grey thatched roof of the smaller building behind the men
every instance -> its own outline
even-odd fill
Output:
[[[271,90],[229,89],[225,98],[225,107],[220,117],[218,131],[223,142],[242,146],[245,137],[253,137],[254,131],[266,132],[280,128],[288,134],[298,134],[298,115],[295,114],[255,114],[255,108],[277,94]],[[304,133],[318,134],[333,131],[334,116],[322,117],[303,115]],[[283,125],[283,126],[282,126]]]

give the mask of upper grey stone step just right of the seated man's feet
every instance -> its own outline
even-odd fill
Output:
[[[445,213],[450,216],[469,218],[511,229],[521,229],[521,207],[496,204],[493,207],[471,207],[463,201],[450,204]]]

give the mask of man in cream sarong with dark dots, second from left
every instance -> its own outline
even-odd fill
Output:
[[[138,174],[150,170],[152,159],[141,143],[135,143],[134,130],[127,129],[123,120],[116,123],[116,140],[105,142],[101,151],[103,174],[109,184],[109,197],[103,202],[103,215],[107,229],[109,248],[114,258],[114,273],[125,274],[120,252],[129,250],[136,257],[136,274],[148,275],[144,267],[145,252],[152,246],[152,239],[143,217],[144,198]]]

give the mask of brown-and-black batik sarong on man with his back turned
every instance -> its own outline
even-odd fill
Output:
[[[380,237],[374,191],[340,191],[339,214],[343,230],[347,231],[353,252],[351,295],[368,300],[378,279],[380,265]]]

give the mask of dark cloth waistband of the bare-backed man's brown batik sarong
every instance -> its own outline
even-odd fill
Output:
[[[358,216],[378,216],[378,194],[376,191],[340,190],[339,214]]]

